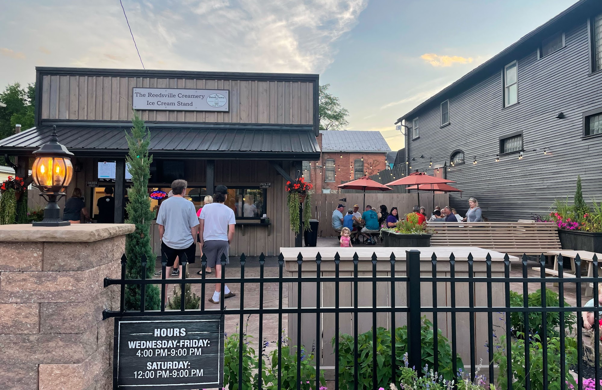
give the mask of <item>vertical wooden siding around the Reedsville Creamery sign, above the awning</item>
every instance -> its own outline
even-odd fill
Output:
[[[151,122],[314,123],[314,82],[42,75],[40,119],[132,119],[133,88],[230,91],[228,112],[139,110]]]

